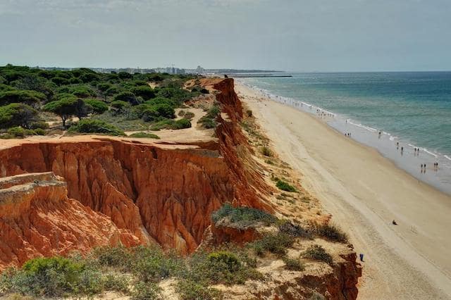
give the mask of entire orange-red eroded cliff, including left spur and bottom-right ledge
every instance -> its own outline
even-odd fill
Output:
[[[274,188],[242,134],[233,80],[201,82],[221,105],[213,142],[86,136],[0,149],[0,270],[106,244],[158,243],[188,254],[207,237],[212,244],[259,237],[211,226],[211,213],[225,202],[274,212],[268,201]],[[271,271],[271,282],[238,292],[243,299],[302,299],[317,290],[330,299],[355,299],[355,253],[340,257],[326,272],[290,277],[287,271],[285,278]]]

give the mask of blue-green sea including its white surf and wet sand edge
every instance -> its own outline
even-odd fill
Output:
[[[399,168],[451,194],[451,72],[293,73],[237,80],[351,133]]]

